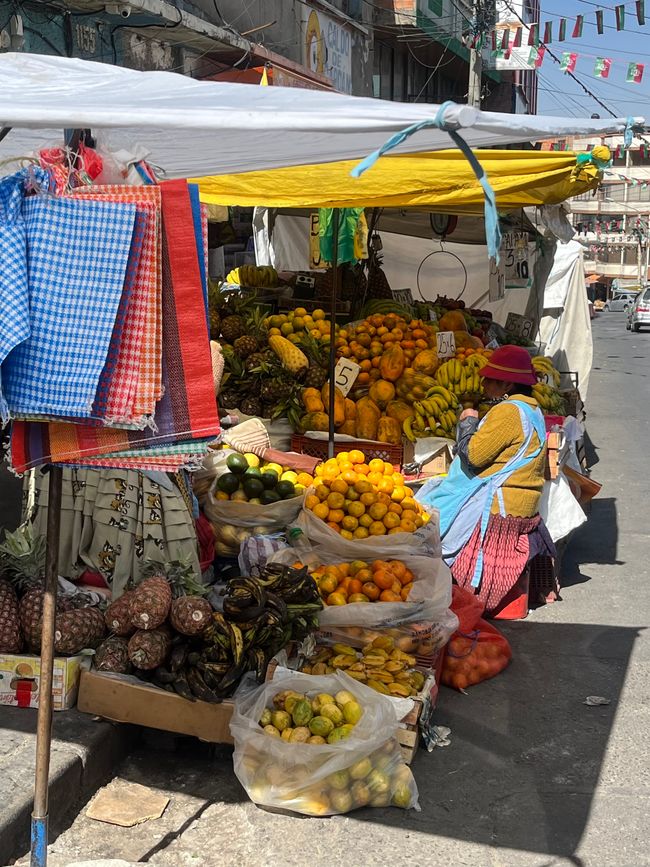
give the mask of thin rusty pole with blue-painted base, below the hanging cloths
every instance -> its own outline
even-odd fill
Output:
[[[47,500],[47,556],[45,595],[41,629],[41,676],[36,727],[36,773],[32,812],[31,867],[47,865],[48,777],[52,744],[52,674],[54,669],[54,628],[59,575],[59,532],[61,527],[61,487],[63,470],[50,467]]]

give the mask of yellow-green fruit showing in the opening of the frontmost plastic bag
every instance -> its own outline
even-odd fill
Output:
[[[352,693],[336,696],[321,693],[310,699],[284,690],[273,698],[260,718],[265,734],[292,744],[335,744],[349,738],[363,716],[363,708]]]

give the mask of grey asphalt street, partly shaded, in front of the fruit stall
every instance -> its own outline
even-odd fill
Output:
[[[563,601],[505,629],[505,673],[467,695],[443,689],[452,743],[415,760],[421,812],[274,815],[247,800],[229,750],[153,738],[118,773],[167,793],[163,817],[125,829],[79,815],[51,867],[650,864],[650,333],[610,313],[594,335],[588,429],[603,488],[565,558]]]

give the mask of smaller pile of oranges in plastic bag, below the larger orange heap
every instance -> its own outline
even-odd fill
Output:
[[[311,571],[326,605],[353,602],[406,602],[413,573],[401,560],[353,560]]]

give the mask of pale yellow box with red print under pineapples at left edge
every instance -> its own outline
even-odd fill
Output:
[[[52,707],[69,710],[74,707],[83,668],[90,667],[90,657],[57,656],[54,659]],[[0,705],[38,707],[41,678],[39,656],[20,653],[0,654]]]

